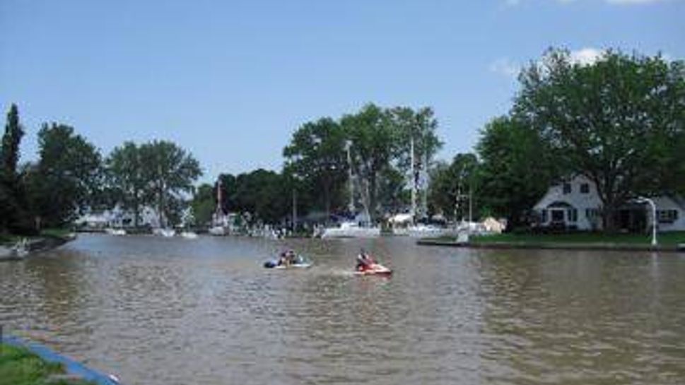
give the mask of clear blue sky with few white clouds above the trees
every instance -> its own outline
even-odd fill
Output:
[[[209,182],[280,170],[305,122],[432,107],[450,160],[549,47],[683,59],[684,20],[683,0],[0,0],[0,108],[18,105],[23,161],[59,122],[103,155],[175,141]]]

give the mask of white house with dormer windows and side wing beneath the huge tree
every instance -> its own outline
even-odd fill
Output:
[[[652,197],[657,208],[659,231],[685,230],[685,201],[671,196]],[[602,201],[595,183],[578,175],[551,186],[533,206],[543,227],[577,230],[602,229]],[[652,225],[652,210],[645,203],[627,203],[616,213],[621,230],[642,231]]]

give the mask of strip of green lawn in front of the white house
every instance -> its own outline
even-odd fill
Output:
[[[627,244],[650,245],[651,235],[644,234],[604,234],[602,232],[570,232],[565,234],[497,234],[474,236],[473,243],[513,243],[513,244]],[[685,244],[685,232],[664,232],[657,234],[662,245]]]

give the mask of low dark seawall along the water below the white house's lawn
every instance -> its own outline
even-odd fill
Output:
[[[447,239],[422,238],[420,246],[461,247],[464,249],[538,249],[576,251],[655,251],[685,253],[685,244],[565,243],[565,242],[457,242]]]

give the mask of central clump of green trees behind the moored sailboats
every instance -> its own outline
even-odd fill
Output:
[[[339,119],[322,117],[302,124],[283,148],[280,172],[255,170],[221,174],[221,184],[200,186],[194,201],[200,222],[209,220],[211,199],[221,185],[223,212],[252,213],[255,220],[279,223],[292,212],[315,214],[324,222],[349,212],[351,191],[359,209],[377,221],[409,203],[406,190],[414,142],[414,170],[430,165],[443,145],[433,109],[383,108],[374,104]],[[428,167],[428,165],[426,165]],[[349,187],[349,175],[353,187]]]

